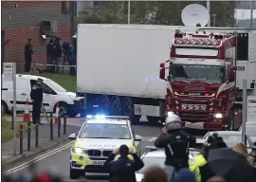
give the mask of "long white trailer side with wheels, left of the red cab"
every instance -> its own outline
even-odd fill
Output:
[[[159,79],[158,66],[170,59],[176,28],[78,25],[77,94],[84,97],[82,115],[129,116],[134,123],[141,116],[150,122],[164,119],[166,82]]]

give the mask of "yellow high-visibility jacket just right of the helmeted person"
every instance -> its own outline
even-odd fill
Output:
[[[203,155],[196,155],[194,158],[189,159],[189,166],[192,173],[196,176],[196,182],[201,182],[200,167],[204,166],[207,160]]]

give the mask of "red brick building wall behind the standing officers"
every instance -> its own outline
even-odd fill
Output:
[[[15,62],[17,72],[24,71],[24,46],[32,39],[35,64],[46,64],[47,40],[43,34],[57,35],[70,41],[71,23],[67,1],[2,1],[2,38],[9,43],[4,48],[4,62]],[[47,29],[46,29],[47,28]]]

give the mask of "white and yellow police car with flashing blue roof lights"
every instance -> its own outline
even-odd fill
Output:
[[[85,173],[107,173],[103,164],[106,158],[126,144],[140,154],[142,137],[136,136],[128,117],[87,116],[70,151],[70,178],[76,179]]]

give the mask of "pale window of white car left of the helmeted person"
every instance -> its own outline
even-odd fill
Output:
[[[155,166],[164,168],[165,157],[144,157],[142,161],[144,162],[144,167],[137,171],[137,173],[145,173],[149,168]]]

